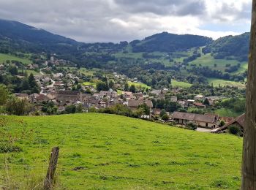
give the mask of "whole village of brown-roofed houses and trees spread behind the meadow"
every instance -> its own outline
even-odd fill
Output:
[[[96,83],[84,82],[85,75],[74,72],[74,70],[66,69],[58,72],[58,69],[55,68],[53,72],[51,66],[65,64],[67,62],[64,60],[55,60],[53,57],[40,66],[29,64],[28,69],[39,70],[40,75],[36,75],[34,78],[41,91],[33,94],[16,93],[15,96],[19,99],[28,99],[34,105],[33,113],[39,113],[39,115],[75,113],[76,107],[79,107],[79,112],[91,112],[122,105],[128,107],[129,110],[137,111],[138,118],[162,123],[176,123],[178,126],[194,123],[197,130],[202,132],[226,132],[228,126],[234,123],[241,130],[244,127],[244,115],[234,118],[221,117],[214,113],[187,113],[189,109],[200,110],[211,107],[220,99],[225,98],[223,96],[198,94],[192,99],[180,99],[178,95],[182,88],[151,89],[135,86],[136,83],[140,83],[137,78],[130,79],[125,75],[118,75],[116,72],[103,79],[91,75],[89,80],[97,81]],[[125,81],[133,83],[129,86]],[[110,83],[112,84],[110,85]],[[105,88],[104,84],[108,88]],[[163,108],[159,106],[161,102],[167,102],[170,111],[161,109]],[[148,111],[138,112],[138,108],[143,106],[147,107]]]

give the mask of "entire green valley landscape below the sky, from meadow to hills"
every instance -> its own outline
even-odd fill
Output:
[[[0,188],[42,189],[58,146],[54,189],[239,189],[248,47],[77,42],[0,19]]]

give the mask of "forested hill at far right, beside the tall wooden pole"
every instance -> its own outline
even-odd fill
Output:
[[[249,32],[238,36],[217,39],[203,48],[203,53],[212,53],[214,58],[247,61],[249,54]]]

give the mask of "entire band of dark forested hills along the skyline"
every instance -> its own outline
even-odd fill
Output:
[[[211,53],[214,58],[246,61],[249,33],[213,41],[211,38],[197,35],[163,32],[129,43],[83,43],[17,21],[0,19],[0,53],[56,53],[61,58],[78,64],[96,60],[97,64],[102,65],[113,61],[114,53],[125,53],[127,50],[133,53],[173,53],[203,46],[206,46],[203,53]]]

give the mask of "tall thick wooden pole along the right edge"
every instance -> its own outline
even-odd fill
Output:
[[[256,189],[256,0],[252,1],[241,189]]]

